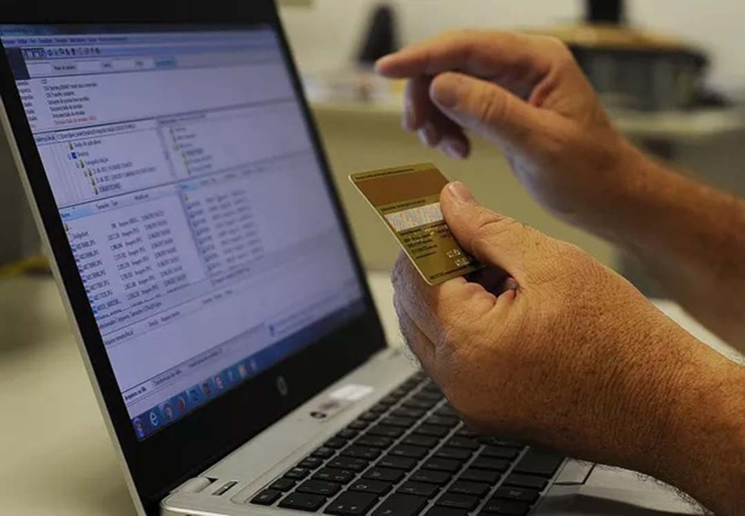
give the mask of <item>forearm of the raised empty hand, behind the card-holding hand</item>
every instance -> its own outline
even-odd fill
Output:
[[[745,350],[745,202],[631,147],[623,181],[582,222],[640,259],[666,293]]]

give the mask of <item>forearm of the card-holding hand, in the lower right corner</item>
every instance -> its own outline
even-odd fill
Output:
[[[673,378],[648,472],[719,516],[745,514],[745,368],[700,349]]]

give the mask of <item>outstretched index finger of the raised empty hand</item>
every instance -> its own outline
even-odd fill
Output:
[[[551,68],[551,48],[542,36],[492,30],[445,33],[378,59],[375,69],[387,77],[435,75],[459,70],[492,77],[504,68],[536,80]]]

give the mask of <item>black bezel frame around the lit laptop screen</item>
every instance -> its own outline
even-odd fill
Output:
[[[127,462],[134,486],[148,514],[156,514],[159,500],[188,477],[199,474],[230,451],[238,448],[282,416],[332,384],[345,373],[383,349],[384,336],[364,280],[361,262],[352,244],[339,196],[302,94],[276,7],[270,0],[229,1],[168,0],[94,2],[85,4],[52,1],[13,1],[3,6],[6,24],[198,24],[251,28],[269,25],[276,30],[282,54],[297,92],[318,163],[323,170],[334,209],[343,228],[355,272],[364,289],[365,311],[340,329],[302,351],[285,358],[269,370],[247,380],[234,390],[212,400],[185,419],[148,439],[136,439],[130,416],[122,400],[110,361],[104,349],[89,300],[75,265],[63,223],[54,202],[31,128],[25,116],[7,58],[0,59],[0,95],[16,141],[28,184],[48,237],[60,280],[72,306],[83,346],[92,364],[95,381],[107,408],[118,445]],[[4,55],[4,49],[3,55]],[[288,390],[276,387],[285,378]],[[83,444],[84,445],[84,444]]]

